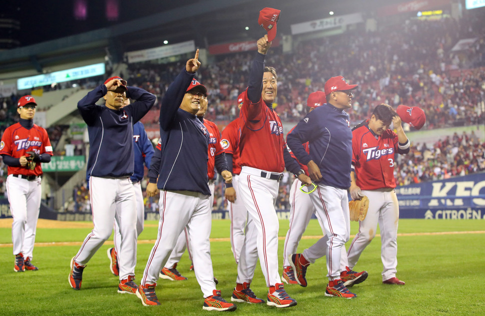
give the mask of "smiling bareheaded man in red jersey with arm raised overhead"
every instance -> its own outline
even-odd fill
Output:
[[[279,222],[274,204],[284,170],[284,140],[281,121],[272,109],[277,94],[276,71],[264,67],[264,57],[270,46],[267,35],[257,41],[256,56],[249,72],[249,85],[243,93],[239,113],[239,195],[256,230],[257,256],[269,288],[266,304],[288,307],[296,305],[296,300],[286,293],[278,273]],[[249,288],[257,260],[257,257],[253,259],[253,242],[253,236],[246,233],[237,264],[236,287],[232,298],[262,303],[264,300],[257,298]]]

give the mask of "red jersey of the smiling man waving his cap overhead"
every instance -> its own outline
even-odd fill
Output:
[[[283,126],[276,112],[262,99],[253,104],[243,93],[239,113],[241,136],[239,152],[241,166],[270,172],[283,172]]]

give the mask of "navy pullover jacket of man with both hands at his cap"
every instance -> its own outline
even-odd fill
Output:
[[[126,95],[136,102],[112,110],[96,104],[106,93],[106,86],[100,85],[77,103],[89,134],[86,173],[94,177],[128,177],[134,165],[133,124],[150,110],[156,98],[143,89],[128,87]]]

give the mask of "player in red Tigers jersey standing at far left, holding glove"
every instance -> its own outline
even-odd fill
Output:
[[[36,106],[33,97],[21,97],[17,102],[20,121],[5,129],[0,142],[0,155],[8,166],[5,187],[13,217],[15,272],[38,269],[31,259],[40,208],[40,163],[50,161],[52,146],[47,131],[33,124]]]

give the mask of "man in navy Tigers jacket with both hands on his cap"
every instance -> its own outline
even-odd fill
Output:
[[[127,97],[136,102],[124,106]],[[100,98],[105,100],[102,106],[96,104]],[[155,99],[151,93],[111,77],[77,103],[89,134],[86,175],[94,228],[71,259],[69,285],[73,289],[80,289],[82,271],[111,235],[114,220],[121,234],[118,293],[134,294],[138,288],[133,282],[137,240],[136,197],[130,180],[134,170],[133,124],[151,109]]]

